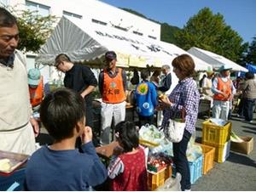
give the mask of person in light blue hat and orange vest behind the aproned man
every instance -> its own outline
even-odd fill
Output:
[[[44,98],[43,76],[38,69],[30,69],[27,74],[28,87],[30,94],[30,103],[33,111],[38,111],[39,106]]]

